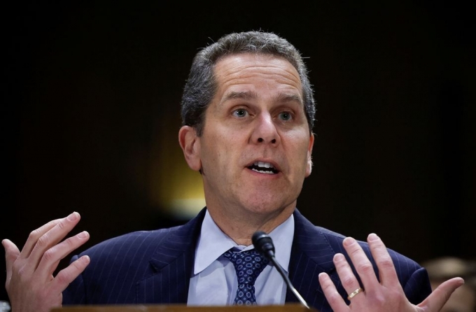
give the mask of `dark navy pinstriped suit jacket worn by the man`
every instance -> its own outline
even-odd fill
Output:
[[[205,208],[185,225],[132,232],[85,250],[80,255],[89,255],[91,262],[63,292],[63,304],[186,304],[204,215]],[[312,225],[297,210],[294,220],[290,281],[309,306],[321,312],[332,311],[318,274],[327,272],[342,297],[347,297],[332,263],[335,253],[346,255],[342,247],[345,236]],[[371,258],[367,243],[360,244]],[[389,251],[407,298],[419,304],[431,292],[426,270]],[[289,290],[286,302],[298,302]]]

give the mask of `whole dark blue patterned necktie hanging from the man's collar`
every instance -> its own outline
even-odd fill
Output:
[[[268,260],[261,257],[256,250],[246,250],[241,253],[228,250],[223,253],[235,266],[238,277],[238,290],[235,304],[255,305],[255,281],[261,271],[265,269]]]

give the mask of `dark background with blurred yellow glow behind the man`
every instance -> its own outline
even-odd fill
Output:
[[[230,31],[264,29],[307,57],[316,91],[300,211],[357,239],[376,232],[418,262],[475,257],[469,4],[162,2],[2,5],[0,239],[21,248],[72,211],[82,220],[71,234],[91,234],[84,248],[188,220],[176,207],[200,208],[200,175],[177,134],[193,55]]]

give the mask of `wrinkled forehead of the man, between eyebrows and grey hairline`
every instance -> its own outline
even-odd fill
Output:
[[[278,88],[300,97],[302,93],[300,76],[295,67],[276,55],[251,52],[227,55],[215,64],[214,74],[218,93],[221,94],[246,87]]]

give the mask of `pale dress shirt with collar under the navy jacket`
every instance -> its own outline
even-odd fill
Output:
[[[294,236],[294,218],[276,227],[269,236],[274,241],[276,260],[288,274],[291,246]],[[253,249],[251,246],[239,246],[216,225],[206,212],[200,237],[195,250],[195,266],[190,278],[188,306],[225,306],[233,304],[237,293],[238,281],[232,262],[223,257],[223,253],[232,247],[240,250]],[[286,283],[279,272],[267,267],[255,281],[255,296],[258,305],[284,304]]]

